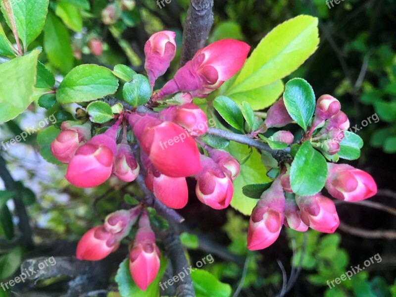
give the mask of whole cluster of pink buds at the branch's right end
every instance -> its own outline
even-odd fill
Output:
[[[330,95],[321,96],[316,103],[312,124],[303,139],[319,141],[318,148],[329,155],[340,150],[339,143],[349,128],[347,115],[340,102]],[[292,122],[283,98],[272,105],[267,113],[267,127],[283,127]],[[278,131],[273,141],[293,142],[288,131]],[[332,199],[317,193],[298,196],[290,185],[290,167],[283,167],[269,189],[264,191],[254,207],[247,233],[247,247],[251,250],[272,245],[279,237],[282,225],[304,232],[308,227],[323,233],[333,233],[340,224]],[[370,174],[347,164],[328,163],[325,188],[331,196],[345,201],[359,201],[377,193],[377,185]]]

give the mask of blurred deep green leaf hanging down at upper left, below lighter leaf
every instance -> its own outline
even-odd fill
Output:
[[[74,57],[67,28],[52,13],[48,13],[44,26],[44,50],[49,62],[62,73],[73,68]]]

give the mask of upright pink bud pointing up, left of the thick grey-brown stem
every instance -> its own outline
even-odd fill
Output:
[[[172,31],[157,32],[151,35],[145,44],[145,69],[148,73],[151,88],[154,86],[156,79],[166,72],[170,61],[175,57],[175,36],[176,33]]]

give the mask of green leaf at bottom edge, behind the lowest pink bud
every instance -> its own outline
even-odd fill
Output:
[[[121,297],[154,297],[159,296],[159,281],[165,272],[167,259],[161,257],[160,267],[157,276],[148,285],[146,291],[140,290],[131,277],[129,272],[129,258],[122,261],[120,267],[118,268],[117,275],[115,276],[115,281],[118,284],[118,290]]]

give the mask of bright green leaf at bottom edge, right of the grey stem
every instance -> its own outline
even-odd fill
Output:
[[[191,274],[197,297],[230,297],[231,286],[220,282],[213,274],[196,269]],[[154,296],[154,295],[153,295]]]

